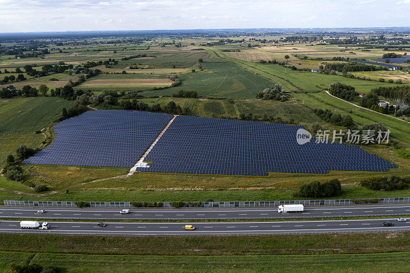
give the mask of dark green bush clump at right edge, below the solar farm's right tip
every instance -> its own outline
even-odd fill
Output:
[[[360,181],[362,187],[374,191],[394,191],[408,188],[410,178],[401,178],[398,176],[391,177],[373,177]]]

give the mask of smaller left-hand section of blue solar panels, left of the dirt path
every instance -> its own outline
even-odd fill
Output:
[[[88,111],[54,125],[51,145],[23,163],[132,167],[173,115]]]

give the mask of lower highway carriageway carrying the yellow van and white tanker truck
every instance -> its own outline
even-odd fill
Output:
[[[394,226],[383,226],[386,220]],[[195,230],[185,230],[192,224]],[[348,233],[393,232],[410,230],[409,222],[396,219],[332,220],[332,221],[276,221],[276,222],[229,222],[229,223],[107,223],[98,227],[91,222],[49,222],[49,230],[20,229],[19,221],[0,221],[0,232],[46,233],[46,234],[97,234],[97,235],[255,235],[292,233]]]

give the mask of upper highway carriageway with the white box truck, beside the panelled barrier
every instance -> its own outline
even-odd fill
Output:
[[[0,218],[36,219],[101,219],[101,220],[195,220],[195,219],[280,219],[354,216],[410,215],[410,204],[379,204],[353,206],[305,207],[303,213],[279,214],[275,207],[265,208],[131,208],[120,214],[121,208],[43,208],[0,207]]]

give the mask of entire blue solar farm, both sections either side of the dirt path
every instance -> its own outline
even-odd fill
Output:
[[[98,110],[54,126],[53,143],[23,163],[131,167],[172,115]],[[177,116],[137,171],[226,175],[328,170],[388,171],[395,168],[353,145],[299,145],[299,125]]]

